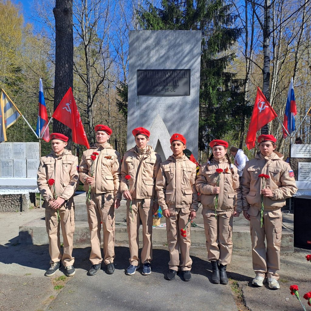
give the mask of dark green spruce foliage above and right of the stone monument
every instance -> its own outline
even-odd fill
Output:
[[[239,130],[250,115],[240,91],[244,81],[227,69],[235,58],[230,48],[242,29],[234,28],[236,16],[224,0],[162,0],[160,8],[151,2],[147,6],[137,11],[143,29],[202,31],[199,149],[205,151],[212,139]]]

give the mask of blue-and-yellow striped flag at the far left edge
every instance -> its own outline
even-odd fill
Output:
[[[13,125],[18,118],[21,117],[21,112],[17,109],[4,90],[1,92],[0,106],[0,142],[5,142],[7,140],[7,128]]]

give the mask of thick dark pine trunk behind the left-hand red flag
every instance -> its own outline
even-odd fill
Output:
[[[55,110],[69,87],[73,85],[72,0],[56,0],[53,13],[55,17]],[[67,148],[71,149],[70,128],[57,120],[53,120],[53,132],[68,136]]]

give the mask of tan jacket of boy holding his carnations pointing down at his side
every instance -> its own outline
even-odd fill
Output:
[[[196,171],[197,166],[184,154],[178,158],[169,156],[161,163],[156,179],[156,190],[162,210],[168,207],[191,207],[191,210],[197,211]]]

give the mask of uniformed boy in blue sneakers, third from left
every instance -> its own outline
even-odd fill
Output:
[[[127,199],[126,220],[130,249],[130,266],[126,274],[132,275],[140,267],[138,229],[142,220],[142,274],[148,275],[151,273],[152,260],[152,215],[159,208],[155,183],[161,157],[147,145],[150,136],[148,130],[142,127],[135,128],[132,134],[136,146],[124,154],[121,168],[121,191]],[[127,175],[130,179],[126,178]]]

